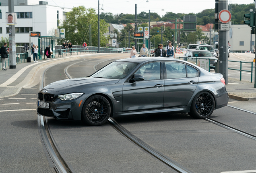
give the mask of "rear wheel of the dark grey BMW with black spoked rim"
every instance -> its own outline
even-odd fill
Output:
[[[198,93],[190,107],[191,117],[196,119],[206,119],[210,117],[215,108],[215,100],[208,92]]]

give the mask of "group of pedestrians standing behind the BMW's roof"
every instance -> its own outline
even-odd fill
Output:
[[[171,42],[168,42],[168,46],[166,46],[165,50],[163,49],[163,44],[159,44],[158,48],[154,50],[156,57],[168,57],[175,58],[174,47],[171,45]],[[135,58],[137,51],[134,46],[132,46],[132,50],[130,52],[130,58]],[[140,48],[140,56],[139,57],[147,57],[149,55],[149,50],[146,48],[145,44],[142,44],[142,48]]]

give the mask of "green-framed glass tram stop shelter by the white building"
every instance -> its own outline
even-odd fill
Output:
[[[45,59],[47,58],[44,54],[44,50],[49,45],[52,48],[53,54],[51,55],[52,58],[55,56],[55,42],[57,40],[63,39],[62,37],[55,37],[55,36],[40,36],[38,38],[38,58]]]

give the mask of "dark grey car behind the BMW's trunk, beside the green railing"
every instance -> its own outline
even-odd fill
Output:
[[[183,57],[184,60],[188,58],[188,61],[193,64],[196,64],[196,57],[213,58],[210,60],[211,66],[216,66],[218,60],[209,50],[190,50]],[[215,69],[215,67],[210,68]]]

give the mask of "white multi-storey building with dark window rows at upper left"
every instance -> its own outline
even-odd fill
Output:
[[[8,38],[6,12],[8,0],[2,0],[0,9],[0,37]],[[15,42],[17,46],[29,43],[29,31],[41,32],[41,36],[54,36],[59,20],[66,20],[66,12],[71,8],[48,5],[48,2],[39,0],[14,0],[14,12],[17,13],[15,25]],[[38,37],[31,37],[31,42],[38,45]]]

